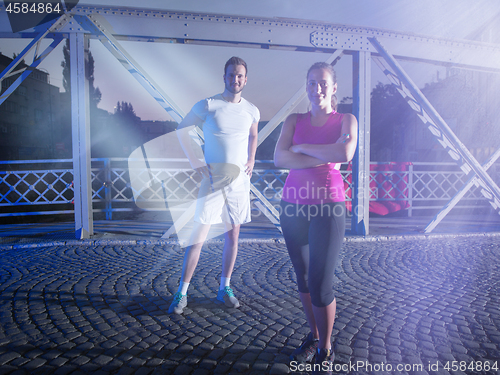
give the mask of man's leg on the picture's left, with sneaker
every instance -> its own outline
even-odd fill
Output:
[[[184,254],[184,262],[182,265],[181,283],[177,293],[174,295],[174,300],[168,309],[168,312],[182,314],[187,306],[187,289],[194,274],[194,270],[200,259],[201,248],[207,238],[210,225],[194,222],[193,232],[189,241],[189,246]]]

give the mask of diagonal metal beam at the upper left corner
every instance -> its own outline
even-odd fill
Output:
[[[58,19],[54,20],[52,25],[48,27],[45,31],[40,32],[29,44],[26,48],[16,56],[16,58],[9,64],[7,68],[0,73],[0,82],[5,78],[11,77],[13,75],[21,74],[5,92],[0,96],[0,105],[7,100],[7,98],[23,83],[23,81],[28,77],[33,70],[36,69],[38,65],[42,63],[43,60],[56,48],[59,43],[63,40],[63,36],[60,33],[56,33],[52,43],[40,54],[38,55],[38,48],[40,42],[47,36],[49,33],[55,33],[61,28],[63,28],[68,21],[72,17],[70,15],[63,15]],[[33,56],[33,62],[27,68],[15,70],[21,61],[26,57],[28,53],[30,53],[33,49],[35,49],[35,53]]]

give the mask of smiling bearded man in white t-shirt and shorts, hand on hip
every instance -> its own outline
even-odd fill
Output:
[[[178,137],[191,163],[203,176],[198,194],[194,228],[186,248],[181,283],[169,313],[182,314],[187,290],[212,224],[224,222],[225,243],[222,277],[217,300],[237,308],[239,302],[230,287],[241,224],[250,221],[250,176],[255,163],[258,123],[257,107],[241,97],[247,83],[247,65],[231,57],[224,67],[222,94],[196,103],[178,127]],[[189,129],[203,126],[205,161],[190,146]]]

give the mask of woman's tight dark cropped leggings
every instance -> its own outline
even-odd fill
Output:
[[[301,205],[281,201],[281,228],[299,292],[314,306],[333,302],[333,276],[345,234],[345,203]]]

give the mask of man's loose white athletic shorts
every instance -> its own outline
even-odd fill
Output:
[[[212,191],[210,179],[204,178],[198,194],[194,221],[219,224],[223,221],[241,225],[251,221],[250,177],[245,173],[229,185]]]

